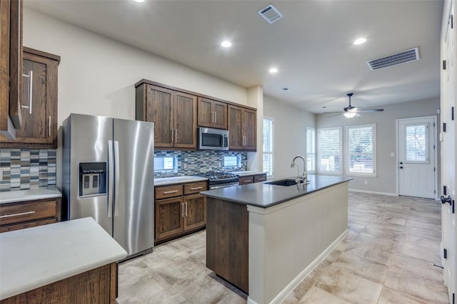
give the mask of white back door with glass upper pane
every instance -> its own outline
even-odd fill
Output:
[[[398,194],[436,197],[436,117],[397,120]]]

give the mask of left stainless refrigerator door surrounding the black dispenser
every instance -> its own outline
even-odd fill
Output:
[[[110,214],[109,177],[113,172],[109,159],[109,142],[113,140],[113,119],[109,117],[71,114],[70,120],[70,192],[69,219],[93,217],[109,234],[113,234],[113,217]],[[112,147],[112,146],[111,146]],[[106,162],[106,194],[79,196],[79,164]]]

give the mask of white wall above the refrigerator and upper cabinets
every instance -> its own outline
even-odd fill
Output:
[[[59,122],[71,112],[135,119],[142,78],[246,105],[243,88],[24,8],[24,46],[61,56]]]

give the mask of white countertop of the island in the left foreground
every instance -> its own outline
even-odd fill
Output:
[[[0,300],[127,256],[91,217],[4,232],[0,244]]]

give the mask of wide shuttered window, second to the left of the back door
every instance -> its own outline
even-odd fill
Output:
[[[341,174],[341,127],[317,132],[318,172]]]

